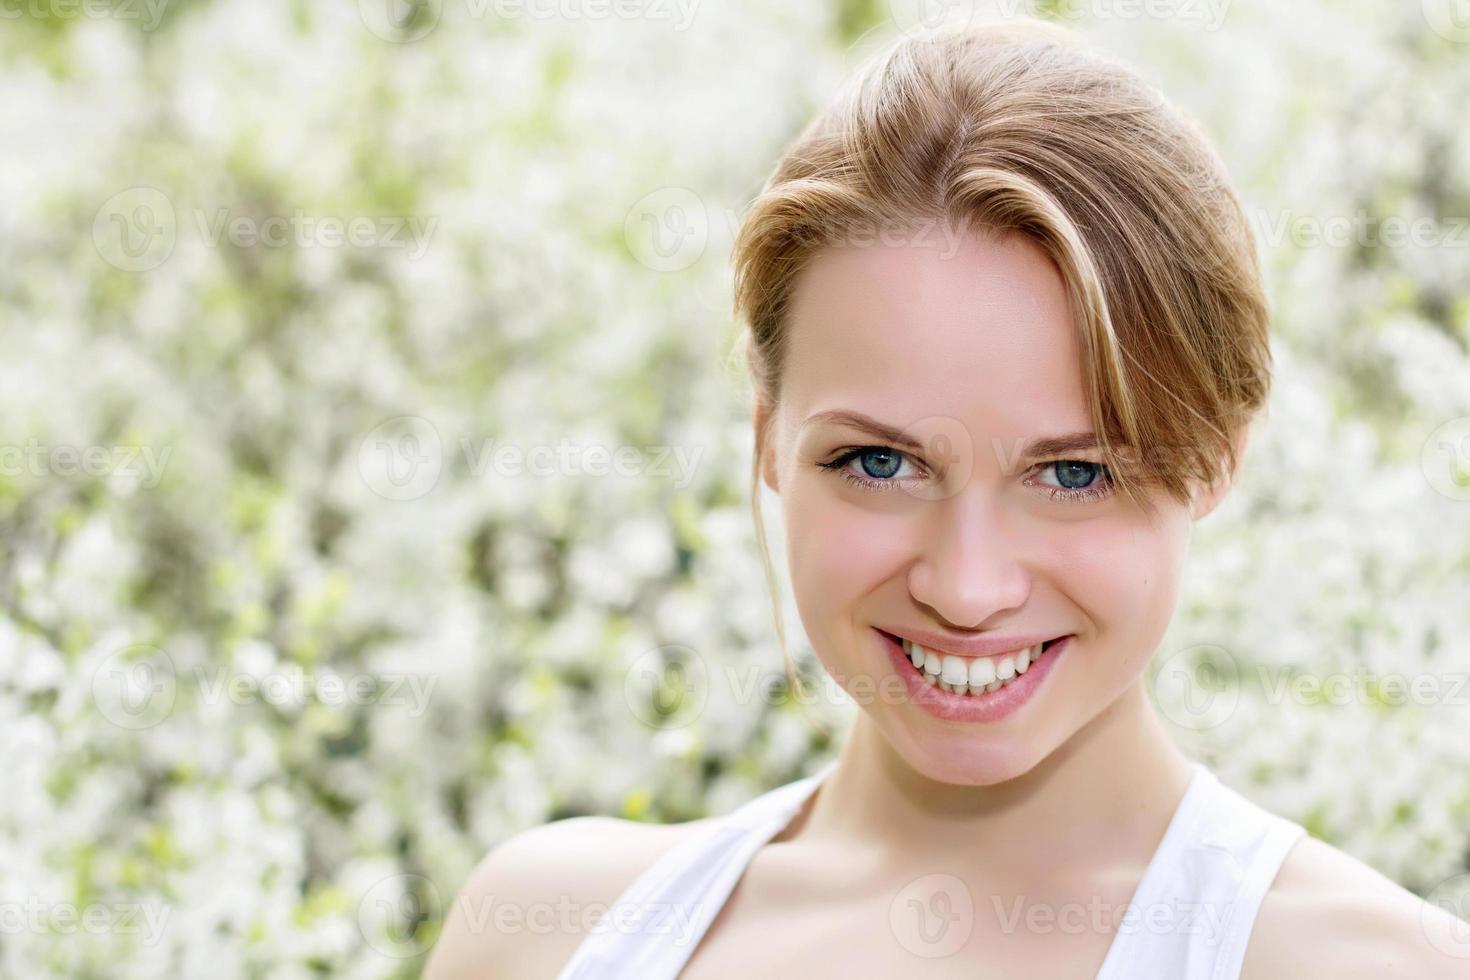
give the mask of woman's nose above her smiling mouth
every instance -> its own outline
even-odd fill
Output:
[[[1030,574],[1019,560],[1004,514],[975,494],[958,494],[929,511],[908,595],[954,629],[976,629],[1019,608]]]

